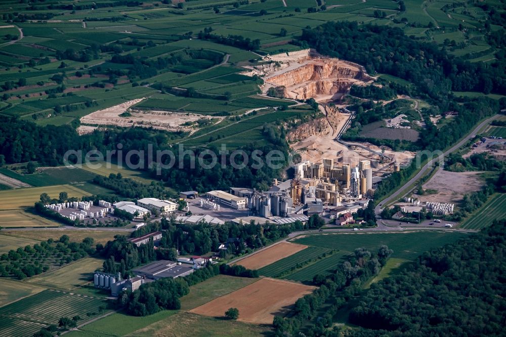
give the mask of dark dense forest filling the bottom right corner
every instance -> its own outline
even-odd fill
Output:
[[[425,252],[365,293],[350,320],[373,330],[357,335],[503,335],[505,254],[505,220]]]

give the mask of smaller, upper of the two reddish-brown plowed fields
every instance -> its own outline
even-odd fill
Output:
[[[267,249],[263,249],[253,255],[250,255],[245,259],[241,259],[232,265],[240,265],[247,269],[260,269],[278,260],[293,255],[305,248],[307,248],[307,246],[302,244],[279,242]]]

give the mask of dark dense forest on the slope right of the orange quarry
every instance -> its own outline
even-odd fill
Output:
[[[506,63],[471,63],[435,43],[411,38],[401,28],[327,22],[305,29],[301,40],[323,55],[361,64],[370,74],[387,73],[416,83],[418,94],[430,98],[447,97],[452,90],[506,93]]]

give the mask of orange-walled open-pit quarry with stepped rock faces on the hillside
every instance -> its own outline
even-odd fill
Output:
[[[340,99],[352,85],[372,82],[365,69],[356,63],[325,58],[307,49],[290,55],[267,56],[268,64],[249,67],[247,74],[263,76],[262,91],[276,88],[284,98],[318,102]]]

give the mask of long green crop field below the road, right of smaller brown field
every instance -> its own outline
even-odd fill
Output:
[[[314,263],[309,263],[303,268],[296,269],[292,273],[283,276],[283,278],[299,282],[311,282],[315,275],[330,273],[336,268],[336,266],[343,262],[343,257],[345,255],[352,254],[353,251],[359,247],[365,247],[371,251],[374,251],[385,244],[394,250],[392,258],[401,259],[403,261],[410,261],[426,250],[440,247],[447,243],[455,242],[458,239],[465,237],[465,235],[467,234],[453,231],[346,234],[336,233],[307,235],[294,239],[293,242],[320,248],[336,249],[338,252],[331,255],[330,257],[319,259]],[[304,260],[299,262],[303,264]],[[289,270],[289,268],[291,268],[289,267],[290,261],[287,260],[284,261],[284,263],[287,266],[285,270]],[[284,270],[281,269],[277,272],[283,273]]]

